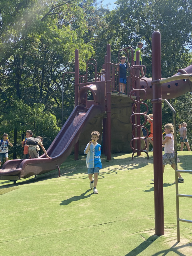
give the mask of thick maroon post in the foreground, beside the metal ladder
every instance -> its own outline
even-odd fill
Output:
[[[153,93],[153,172],[155,202],[155,234],[164,235],[163,158],[162,158],[162,103],[161,85],[161,34],[152,34],[152,93]]]

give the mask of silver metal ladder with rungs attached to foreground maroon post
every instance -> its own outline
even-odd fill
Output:
[[[192,74],[190,74],[191,77]],[[178,76],[177,76],[178,77]],[[192,173],[192,170],[178,170],[177,169],[177,134],[176,134],[176,112],[172,105],[168,102],[166,99],[161,99],[161,101],[166,102],[169,108],[173,112],[173,126],[174,126],[174,150],[175,150],[175,164],[176,164],[176,170],[175,170],[175,190],[176,190],[176,215],[177,215],[177,242],[180,242],[180,227],[179,227],[179,221],[192,223],[192,220],[186,220],[186,219],[180,219],[179,218],[179,197],[189,197],[192,198],[192,195],[184,195],[179,194],[179,188],[178,188],[178,176],[177,173]]]

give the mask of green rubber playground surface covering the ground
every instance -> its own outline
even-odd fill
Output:
[[[177,242],[174,170],[164,172],[165,234],[154,235],[153,152],[102,156],[94,195],[86,156],[57,170],[0,182],[0,256],[192,256],[192,224],[180,222]],[[192,169],[191,152],[178,152],[178,169]],[[192,195],[192,174],[179,194]],[[180,218],[192,220],[191,198],[179,198]]]

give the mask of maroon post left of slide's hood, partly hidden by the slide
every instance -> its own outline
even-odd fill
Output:
[[[79,50],[75,49],[75,107],[78,106],[79,92]],[[74,146],[74,159],[79,159],[79,141]]]

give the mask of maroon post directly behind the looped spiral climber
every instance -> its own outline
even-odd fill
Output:
[[[140,55],[140,52],[136,51],[136,65],[138,65],[138,66],[140,64],[139,55]],[[140,68],[136,69],[136,76],[140,77]],[[137,89],[137,90],[140,89],[140,79],[137,79],[135,81],[135,89]],[[136,100],[140,101],[140,91],[136,91],[135,94],[136,94]],[[138,102],[136,104],[136,113],[137,113],[137,117],[136,117],[137,125],[141,125],[141,117],[140,117],[140,115],[138,115],[140,113],[140,102]],[[141,137],[141,127],[138,127],[136,130],[137,130],[137,138],[140,138]],[[137,140],[137,149],[141,150],[141,140]],[[137,156],[140,156],[140,155],[141,155],[141,151],[137,151]]]

